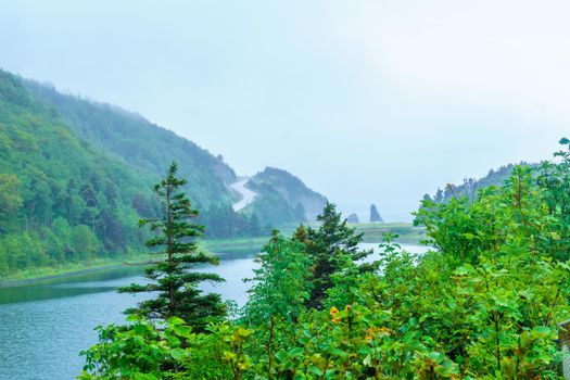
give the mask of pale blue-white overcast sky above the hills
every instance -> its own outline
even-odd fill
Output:
[[[568,20],[562,0],[0,0],[0,67],[396,220],[570,137]]]

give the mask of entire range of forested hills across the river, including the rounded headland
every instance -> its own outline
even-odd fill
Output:
[[[152,187],[173,160],[212,238],[305,220],[321,198],[287,172],[264,170],[252,178],[259,197],[237,213],[237,176],[220,156],[138,114],[4,71],[0,157],[0,279],[140,250],[148,233],[137,221],[159,213]]]

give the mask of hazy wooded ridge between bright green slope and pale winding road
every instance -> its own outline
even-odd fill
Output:
[[[145,183],[132,206],[149,216],[155,200],[150,194],[154,183],[175,160],[180,174],[188,178],[187,191],[201,212],[201,221],[208,226],[207,236],[227,239],[269,233],[267,221],[257,216],[233,212],[235,195],[227,185],[236,173],[220,156],[214,156],[195,143],[148,122],[142,116],[119,107],[63,94],[52,86],[31,80],[26,88],[41,97],[65,118],[69,128],[83,140],[127,165]]]

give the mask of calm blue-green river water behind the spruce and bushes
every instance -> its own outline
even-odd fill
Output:
[[[413,253],[426,250],[403,248]],[[197,269],[215,271],[226,279],[202,288],[243,305],[250,286],[243,278],[252,277],[254,256],[225,254],[219,266]],[[121,266],[0,288],[0,379],[74,379],[84,365],[79,352],[97,342],[93,328],[123,324],[122,312],[143,300],[142,295],[115,291],[119,286],[143,282],[141,273],[138,266]]]

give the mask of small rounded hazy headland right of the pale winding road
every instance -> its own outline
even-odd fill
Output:
[[[250,207],[276,225],[300,219],[315,221],[327,202],[301,179],[275,167],[257,173],[245,186],[258,194]]]

